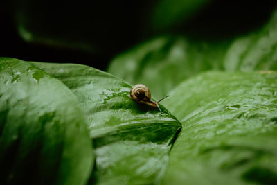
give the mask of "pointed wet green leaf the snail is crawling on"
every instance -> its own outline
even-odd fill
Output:
[[[91,67],[33,64],[64,82],[87,114],[96,148],[91,184],[152,184],[159,179],[181,128],[162,105],[163,114],[138,105],[129,98],[131,85]]]

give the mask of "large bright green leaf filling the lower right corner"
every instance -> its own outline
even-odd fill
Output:
[[[276,184],[277,73],[209,72],[164,104],[183,129],[161,184]]]

